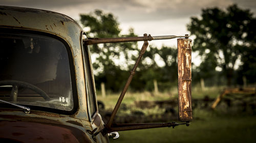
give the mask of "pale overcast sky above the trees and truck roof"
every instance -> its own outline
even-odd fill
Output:
[[[77,21],[79,14],[100,9],[116,16],[122,34],[127,34],[129,28],[133,27],[138,36],[143,36],[144,33],[152,36],[190,34],[186,28],[190,17],[199,17],[201,10],[205,8],[225,9],[232,4],[238,4],[242,9],[250,9],[254,15],[256,13],[255,0],[0,0],[0,5],[55,11]],[[190,38],[193,40],[193,37]],[[158,47],[177,46],[177,41],[150,41],[150,44]],[[142,42],[138,45],[141,46]],[[200,61],[195,56],[193,59]]]

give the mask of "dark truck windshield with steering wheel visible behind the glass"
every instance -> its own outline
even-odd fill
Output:
[[[36,34],[0,32],[0,67],[1,100],[73,109],[68,53],[59,40]]]

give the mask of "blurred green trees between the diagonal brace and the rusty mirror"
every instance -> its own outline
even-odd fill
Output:
[[[158,65],[159,57],[163,65]],[[138,67],[137,77],[131,85],[135,90],[154,90],[154,80],[158,81],[160,91],[169,90],[178,84],[177,48],[162,46],[147,47],[141,64]]]

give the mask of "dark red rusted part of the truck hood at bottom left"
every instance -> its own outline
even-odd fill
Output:
[[[55,123],[4,120],[0,122],[0,142],[91,142],[75,128]]]

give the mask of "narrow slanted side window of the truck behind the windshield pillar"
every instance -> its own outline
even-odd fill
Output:
[[[86,75],[86,91],[87,91],[87,99],[88,99],[88,108],[89,108],[89,115],[92,116],[97,110],[96,107],[96,97],[94,95],[94,84],[93,84],[93,78],[92,78],[92,69],[91,69],[91,63],[89,58],[89,47],[83,46],[83,61],[84,61],[84,69],[85,69],[85,75]]]

